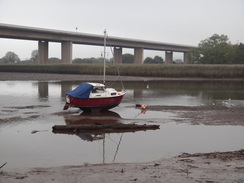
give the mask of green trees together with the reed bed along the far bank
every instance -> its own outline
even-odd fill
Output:
[[[144,64],[134,65],[134,55],[122,55],[119,70],[123,76],[174,77],[174,78],[244,78],[244,44],[232,45],[225,35],[214,34],[189,52],[192,64],[163,64],[163,58],[147,57]],[[38,51],[31,58],[20,61],[14,52],[0,59],[0,72],[32,72],[59,74],[101,75],[103,58],[75,58],[73,64],[62,64],[59,58],[49,58],[47,65],[39,65]],[[117,75],[113,60],[107,60],[107,75]],[[175,60],[174,63],[182,63]]]

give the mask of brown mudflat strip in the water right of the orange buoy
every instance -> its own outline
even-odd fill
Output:
[[[244,126],[243,106],[148,106],[147,110],[173,112],[179,123]]]

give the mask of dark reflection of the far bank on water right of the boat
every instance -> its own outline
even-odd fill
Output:
[[[213,99],[244,99],[244,81],[150,81],[125,82],[127,90],[153,91],[155,94],[198,96]],[[143,95],[145,97],[145,95]]]

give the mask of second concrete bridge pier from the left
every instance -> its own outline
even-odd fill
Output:
[[[61,60],[62,63],[71,64],[72,63],[72,42],[71,41],[63,41],[61,43]]]

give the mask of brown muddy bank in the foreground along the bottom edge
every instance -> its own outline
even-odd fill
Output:
[[[2,170],[1,182],[244,182],[244,150],[182,154],[150,163]]]

